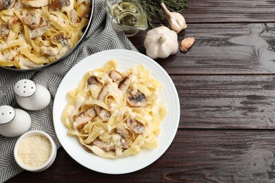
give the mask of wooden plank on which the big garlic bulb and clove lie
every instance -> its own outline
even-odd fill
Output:
[[[192,48],[183,53],[156,59],[169,74],[266,74],[275,73],[275,25],[262,24],[189,24],[178,34],[195,37]],[[130,38],[146,54],[146,32]]]

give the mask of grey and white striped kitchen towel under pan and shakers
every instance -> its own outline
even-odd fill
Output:
[[[13,108],[20,108],[16,103],[13,92],[13,86],[18,80],[28,79],[47,87],[51,93],[49,106],[40,111],[27,111],[32,118],[30,130],[47,132],[59,148],[61,144],[54,131],[52,116],[54,96],[59,87],[59,83],[68,70],[83,58],[90,56],[92,53],[108,49],[137,51],[125,34],[114,31],[109,16],[106,16],[104,0],[94,0],[92,25],[87,33],[87,37],[85,37],[85,40],[80,44],[78,49],[66,58],[66,60],[37,72],[16,72],[0,68],[0,106],[8,105]],[[5,182],[7,179],[23,171],[13,158],[13,148],[18,138],[19,137],[4,137],[0,134],[0,182]]]

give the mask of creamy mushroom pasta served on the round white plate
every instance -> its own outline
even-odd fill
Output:
[[[144,65],[118,72],[117,62],[87,72],[68,92],[62,122],[86,151],[105,158],[126,157],[158,146],[166,108],[161,83]]]

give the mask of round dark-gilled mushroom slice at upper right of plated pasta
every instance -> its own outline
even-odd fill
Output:
[[[146,104],[147,97],[139,89],[133,89],[127,95],[127,101],[130,106],[140,107]]]

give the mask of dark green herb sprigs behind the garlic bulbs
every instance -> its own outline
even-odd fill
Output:
[[[189,8],[188,0],[140,0],[142,8],[147,14],[147,22],[150,28],[153,28],[152,19],[156,17],[156,12],[159,13],[161,20],[164,19],[164,11],[160,6],[161,3],[164,3],[169,11],[183,13],[185,8]]]

